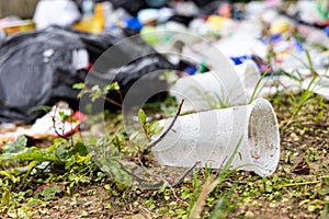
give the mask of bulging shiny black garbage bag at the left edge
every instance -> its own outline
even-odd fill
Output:
[[[71,85],[84,74],[72,66],[72,50],[83,48],[77,34],[60,28],[7,38],[0,47],[0,123],[31,123],[44,114],[30,113],[32,107],[77,100]]]

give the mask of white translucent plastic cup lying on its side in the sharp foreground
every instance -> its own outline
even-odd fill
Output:
[[[159,122],[164,127],[162,131],[172,119]],[[159,136],[161,134],[154,140]],[[266,100],[179,116],[152,151],[158,162],[164,165],[192,166],[201,161],[202,166],[218,169],[225,165],[238,146],[232,169],[254,171],[261,176],[275,171],[280,158],[280,132],[274,110]]]

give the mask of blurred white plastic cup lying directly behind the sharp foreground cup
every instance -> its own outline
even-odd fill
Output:
[[[180,103],[182,99],[185,100],[182,114],[245,105],[247,104],[247,100],[251,97],[257,82],[260,80],[259,69],[252,60],[247,60],[234,67],[230,72],[218,73],[226,73],[228,77],[231,76],[231,91],[228,91],[226,84],[213,72],[184,77],[175,82],[170,92],[175,96],[177,102]],[[234,80],[240,81],[232,82]],[[237,93],[238,89],[236,88],[240,84],[243,85],[243,90]]]

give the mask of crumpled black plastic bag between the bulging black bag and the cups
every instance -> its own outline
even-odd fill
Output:
[[[177,66],[156,53],[134,32],[117,28],[99,35],[81,34],[81,39],[86,44],[90,60],[98,60],[88,76],[89,88],[95,84],[103,88],[109,82],[116,81],[122,96],[125,97],[131,87],[137,80],[140,82],[143,78],[144,85],[134,90],[133,95],[136,99],[133,100],[137,100],[145,93],[157,94],[159,90],[168,90],[167,82],[159,80],[159,76],[164,70],[175,70]],[[110,47],[111,49],[105,51]],[[120,96],[115,94],[115,92],[110,92],[107,97],[118,101]],[[154,97],[161,97],[163,94],[157,94]],[[107,107],[113,107],[113,105],[107,103]]]

